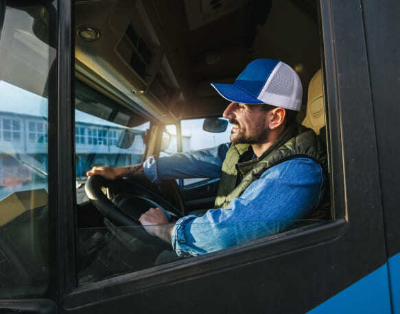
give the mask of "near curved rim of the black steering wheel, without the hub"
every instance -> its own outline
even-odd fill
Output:
[[[144,243],[161,247],[163,249],[172,249],[171,245],[156,236],[148,234],[139,220],[124,213],[102,192],[102,187],[107,187],[110,181],[102,176],[94,175],[88,178],[85,184],[85,192],[95,208],[104,215],[109,221],[128,228],[130,233],[142,240]]]

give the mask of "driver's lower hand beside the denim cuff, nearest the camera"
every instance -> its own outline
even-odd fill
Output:
[[[148,234],[171,243],[174,225],[169,225],[168,218],[161,208],[150,208],[139,217],[139,221]]]

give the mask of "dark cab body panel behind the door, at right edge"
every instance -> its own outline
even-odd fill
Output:
[[[393,313],[400,312],[400,233],[399,233],[399,132],[400,113],[400,56],[399,36],[400,3],[362,1],[365,19],[366,44],[370,68],[371,91],[377,128],[379,177],[384,207],[386,254],[390,276],[390,295]]]

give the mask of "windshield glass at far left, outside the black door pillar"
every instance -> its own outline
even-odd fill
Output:
[[[43,2],[44,3],[44,2]],[[6,7],[0,37],[0,299],[49,281],[47,88],[56,49],[49,12]]]

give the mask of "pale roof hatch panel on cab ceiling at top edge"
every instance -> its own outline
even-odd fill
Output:
[[[211,23],[248,3],[248,0],[184,0],[189,30]]]

